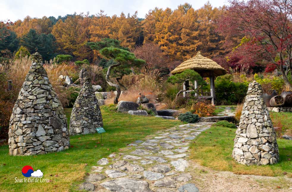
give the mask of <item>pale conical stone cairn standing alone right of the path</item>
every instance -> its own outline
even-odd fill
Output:
[[[249,84],[232,152],[241,164],[267,165],[279,160],[276,133],[260,84]]]

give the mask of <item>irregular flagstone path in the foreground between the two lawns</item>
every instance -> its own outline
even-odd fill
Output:
[[[213,122],[179,125],[98,160],[79,189],[117,192],[197,192],[188,182],[189,144]],[[194,179],[194,178],[193,178]]]

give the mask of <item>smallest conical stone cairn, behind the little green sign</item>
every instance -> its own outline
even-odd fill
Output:
[[[74,103],[70,117],[70,134],[95,133],[95,128],[103,126],[101,110],[93,92],[91,79],[84,78],[84,84]]]

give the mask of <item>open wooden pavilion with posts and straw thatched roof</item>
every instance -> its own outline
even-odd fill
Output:
[[[211,96],[199,96],[203,98],[209,98],[212,100],[212,104],[215,104],[215,86],[214,86],[214,77],[220,76],[220,75],[225,75],[226,70],[221,67],[218,63],[215,61],[202,56],[201,52],[198,51],[197,55],[194,56],[191,59],[188,59],[184,62],[182,62],[178,67],[176,67],[174,70],[172,70],[170,73],[175,75],[177,73],[181,73],[184,70],[187,69],[192,69],[199,73],[202,77],[209,77],[210,78],[210,91],[211,91]],[[197,89],[197,81],[194,82],[195,84],[195,89]],[[185,82],[184,84],[184,89],[188,89],[189,82]],[[185,96],[184,92],[184,96]]]

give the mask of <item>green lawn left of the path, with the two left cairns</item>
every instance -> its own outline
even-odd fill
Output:
[[[70,119],[71,109],[65,109]],[[114,113],[101,109],[106,133],[70,137],[70,149],[63,152],[35,156],[10,156],[8,145],[0,146],[0,191],[69,191],[76,189],[91,166],[112,152],[120,152],[127,144],[145,138],[158,130],[182,124],[176,120],[157,117],[141,117]],[[23,166],[32,166],[43,171],[48,183],[17,183],[15,177],[23,179]]]

